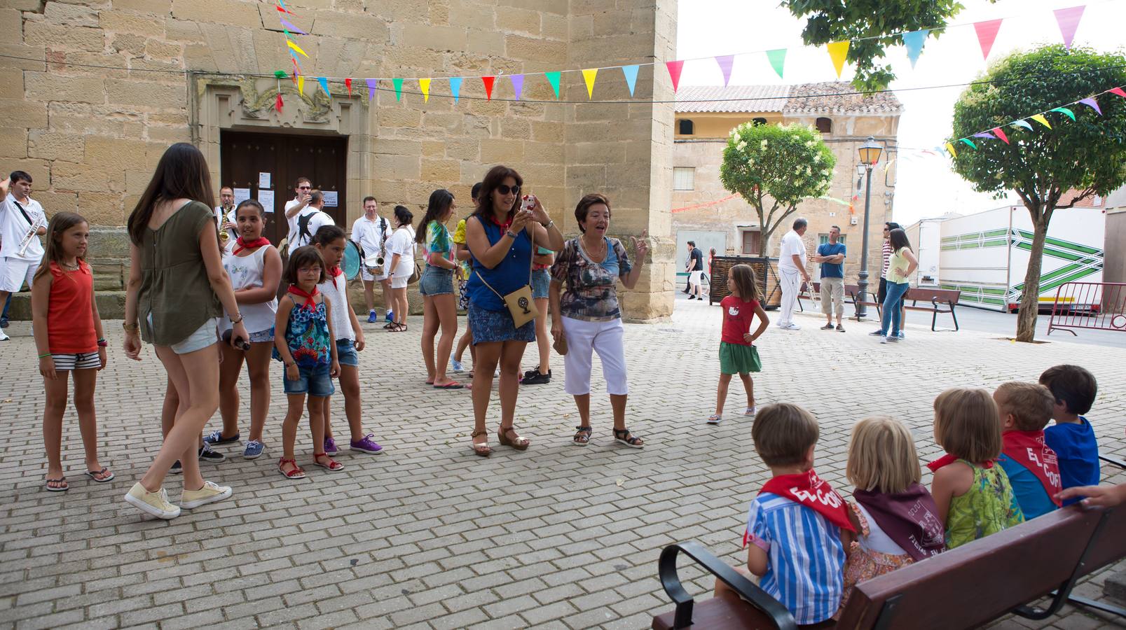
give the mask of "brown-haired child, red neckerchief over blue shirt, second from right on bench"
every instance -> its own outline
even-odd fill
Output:
[[[1055,451],[1044,442],[1054,406],[1052,393],[1043,385],[1013,380],[1001,384],[993,400],[1001,423],[998,464],[1009,476],[1025,520],[1047,514],[1060,506],[1055,495],[1063,489]]]

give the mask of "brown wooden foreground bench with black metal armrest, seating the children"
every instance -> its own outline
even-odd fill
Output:
[[[858,584],[834,627],[947,630],[975,628],[1008,613],[1047,619],[1069,598],[1088,603],[1070,597],[1071,591],[1081,577],[1126,556],[1124,531],[1126,507],[1084,511],[1071,505],[1056,510]],[[677,576],[681,552],[742,598],[712,597],[697,605]],[[695,542],[665,547],[659,572],[676,610],[654,616],[654,630],[797,628],[777,600]],[[1052,595],[1046,608],[1026,605],[1045,595]],[[1098,608],[1126,616],[1120,608]]]

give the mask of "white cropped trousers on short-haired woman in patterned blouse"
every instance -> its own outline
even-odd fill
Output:
[[[590,394],[590,371],[595,352],[602,361],[602,379],[606,393],[626,395],[626,351],[622,344],[625,327],[622,320],[609,322],[586,322],[562,317],[563,334],[566,335],[568,352],[563,358],[563,390],[572,396]]]

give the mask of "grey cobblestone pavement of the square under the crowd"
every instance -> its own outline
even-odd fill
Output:
[[[591,446],[571,446],[578,416],[554,357],[555,379],[521,389],[517,424],[531,448],[501,447],[490,459],[467,448],[468,393],[423,386],[414,332],[421,320],[411,318],[408,334],[364,324],[365,424],[385,452],[343,451],[343,472],[310,467],[307,479],[285,480],[275,468],[285,405],[278,384],[266,457],[244,461],[232,444],[220,447],[233,456],[226,462],[204,465],[207,478],[234,487],[233,500],[170,522],[122,501],[160,440],[164,376],[151,349],[143,362],[128,361],[119,324],[107,322],[99,443],[117,478],[98,485],[81,474],[70,412],[63,457],[71,489],[47,493],[43,386],[29,328],[12,323],[12,341],[0,345],[0,627],[645,628],[651,614],[670,608],[656,580],[660,549],[697,540],[739,561],[747,504],[766,479],[750,422],[703,423],[715,397],[720,318],[717,306],[678,300],[671,322],[626,326],[628,423],[646,439],[644,450],[613,443],[605,404],[596,407]],[[938,452],[931,402],[941,389],[1035,379],[1065,361],[1098,377],[1090,416],[1103,451],[1126,456],[1120,349],[1015,344],[917,325],[904,343],[879,345],[866,334],[870,324],[852,322],[841,334],[817,330],[822,320],[812,315],[797,322],[803,330],[770,328],[761,339],[758,402],[798,403],[817,416],[817,470],[838,488],[848,488],[848,431],[859,417],[904,420],[930,458]],[[525,366],[534,360],[527,354]],[[605,400],[604,392],[596,384],[595,399]],[[741,397],[736,380],[729,412]],[[491,431],[499,417],[493,405]],[[340,429],[342,402],[336,410]],[[217,426],[216,416],[208,430]],[[298,459],[307,464],[302,431]],[[1106,480],[1126,480],[1105,472]],[[173,501],[179,485],[169,477]],[[682,575],[694,593],[709,587],[694,568]],[[1099,598],[1101,580],[1079,592]],[[1069,608],[1029,627],[1109,623]]]

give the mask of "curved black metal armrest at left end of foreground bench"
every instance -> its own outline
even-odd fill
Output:
[[[751,606],[769,616],[778,630],[797,630],[797,622],[786,606],[696,542],[679,542],[661,550],[658,564],[661,586],[677,605],[673,628],[687,628],[692,623],[692,597],[680,585],[680,577],[677,576],[677,554],[681,551],[739,593]]]

